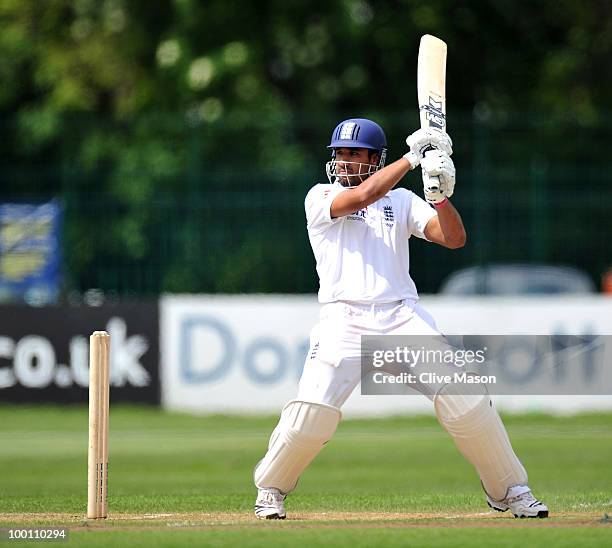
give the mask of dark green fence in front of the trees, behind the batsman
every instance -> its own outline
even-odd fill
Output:
[[[303,200],[325,180],[337,118],[267,128],[244,121],[194,128],[172,117],[128,127],[79,120],[47,157],[1,166],[0,200],[62,201],[66,293],[315,292]],[[376,119],[390,159],[399,157],[415,115]],[[494,262],[574,265],[599,285],[612,264],[609,122],[451,115],[453,202],[468,243],[450,251],[415,241],[411,272],[420,291],[436,292],[458,268]],[[115,149],[88,163],[87,146],[102,130]],[[421,193],[418,173],[402,184]]]

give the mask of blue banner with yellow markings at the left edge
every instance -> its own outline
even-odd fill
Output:
[[[0,301],[56,303],[61,275],[60,205],[0,204]]]

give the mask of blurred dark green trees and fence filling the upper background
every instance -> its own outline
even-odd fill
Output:
[[[302,204],[330,132],[372,117],[403,154],[424,33],[449,46],[469,243],[416,242],[421,290],[612,262],[607,1],[1,0],[0,25],[0,201],[60,199],[66,291],[316,291]]]

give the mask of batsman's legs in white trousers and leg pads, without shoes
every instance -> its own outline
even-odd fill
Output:
[[[297,400],[285,406],[268,451],[256,466],[258,487],[275,487],[285,494],[292,491],[300,474],[333,436],[338,409],[361,380],[362,335],[440,333],[431,316],[413,302],[324,305],[311,332]],[[456,371],[451,364],[441,367],[443,373]],[[433,401],[438,421],[476,468],[490,497],[501,501],[511,487],[528,489],[527,473],[484,388],[475,395],[451,394],[446,392],[448,386],[435,383],[413,388]]]

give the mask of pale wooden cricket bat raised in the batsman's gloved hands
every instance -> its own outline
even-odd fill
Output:
[[[446,49],[446,43],[431,34],[421,37],[417,65],[421,128],[446,131]]]

